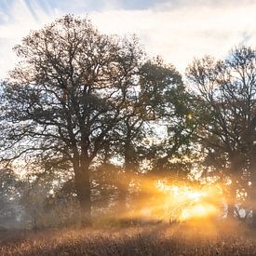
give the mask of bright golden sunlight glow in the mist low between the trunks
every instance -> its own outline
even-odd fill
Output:
[[[126,185],[127,180],[136,189],[136,193],[134,197],[131,195],[128,198],[128,209],[119,209],[116,204],[119,218],[145,222],[186,222],[201,225],[205,229],[206,222],[214,226],[215,220],[223,215],[225,198],[222,186],[218,183],[200,184],[169,177],[173,181],[170,183],[158,176],[140,177],[134,174],[122,178],[119,175],[116,178],[120,187]]]

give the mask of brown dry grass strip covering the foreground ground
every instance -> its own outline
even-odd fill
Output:
[[[3,233],[1,255],[256,255],[252,237],[206,236],[190,227],[66,229]]]

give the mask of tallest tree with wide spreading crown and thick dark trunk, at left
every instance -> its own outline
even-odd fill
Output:
[[[82,220],[91,217],[90,166],[122,120],[142,51],[65,16],[15,47],[20,62],[2,86],[3,158],[69,162]],[[32,159],[32,158],[31,158]]]

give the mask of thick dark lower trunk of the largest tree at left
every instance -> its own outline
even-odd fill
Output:
[[[91,198],[88,164],[74,166],[74,181],[77,198],[80,203],[80,217],[82,225],[91,222]]]

